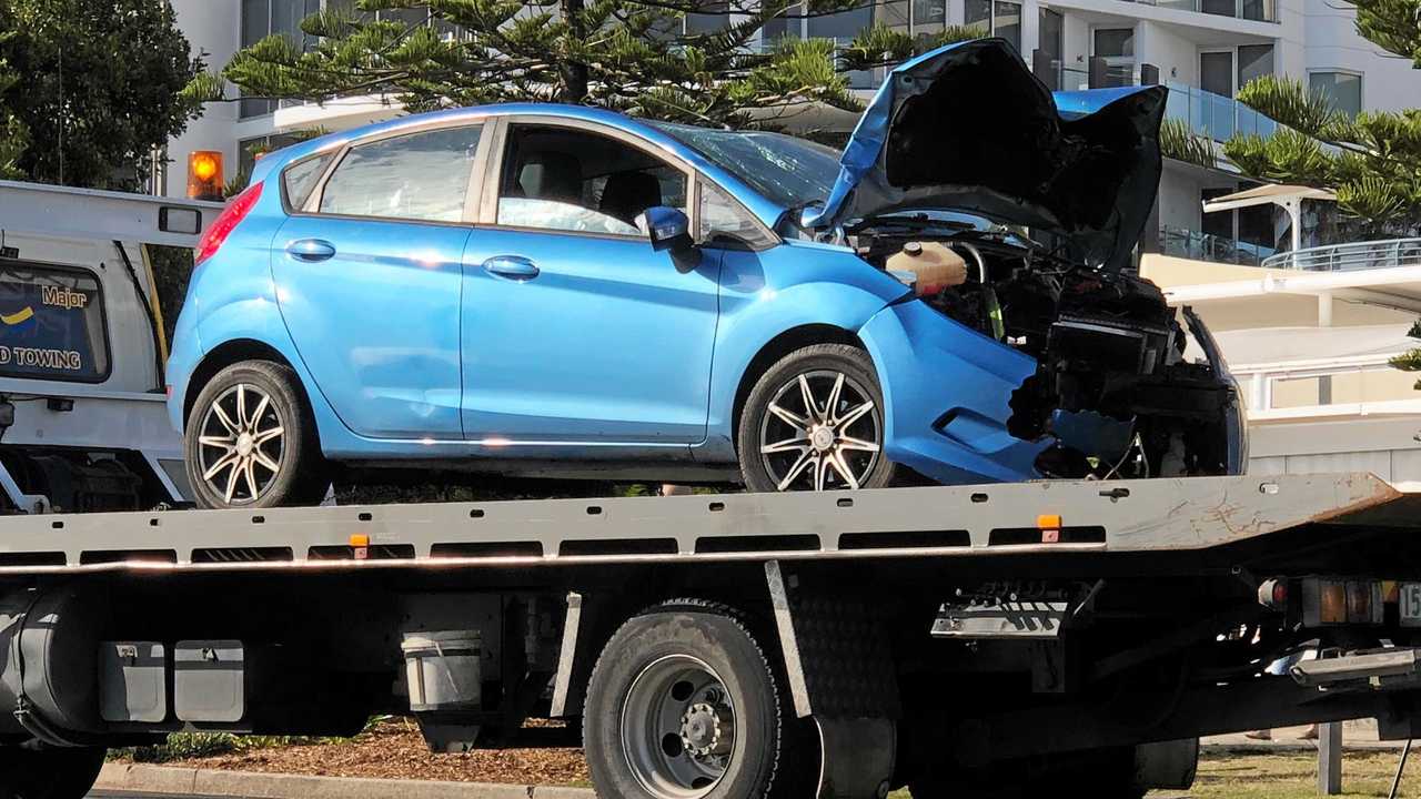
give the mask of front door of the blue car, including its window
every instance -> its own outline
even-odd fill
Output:
[[[465,252],[463,428],[496,444],[705,439],[719,256],[681,264],[635,218],[692,173],[610,128],[503,122]],[[605,456],[625,449],[588,449]]]

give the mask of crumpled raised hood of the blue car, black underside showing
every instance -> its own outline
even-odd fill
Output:
[[[1121,269],[1160,185],[1168,90],[1052,95],[1002,38],[949,44],[888,74],[810,229],[953,209],[1064,236],[1067,254]]]

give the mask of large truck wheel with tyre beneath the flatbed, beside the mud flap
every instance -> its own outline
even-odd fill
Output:
[[[699,600],[651,608],[611,637],[583,741],[597,795],[618,799],[793,796],[806,761],[817,763],[749,627]]]

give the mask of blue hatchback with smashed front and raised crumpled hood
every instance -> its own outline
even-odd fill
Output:
[[[1208,333],[1130,270],[1164,102],[1053,97],[979,40],[894,70],[843,154],[537,104],[287,148],[206,232],[178,321],[193,492],[1238,472]]]

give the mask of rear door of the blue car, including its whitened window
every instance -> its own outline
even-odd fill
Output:
[[[273,245],[301,361],[351,431],[462,439],[459,296],[480,125],[351,145]]]

